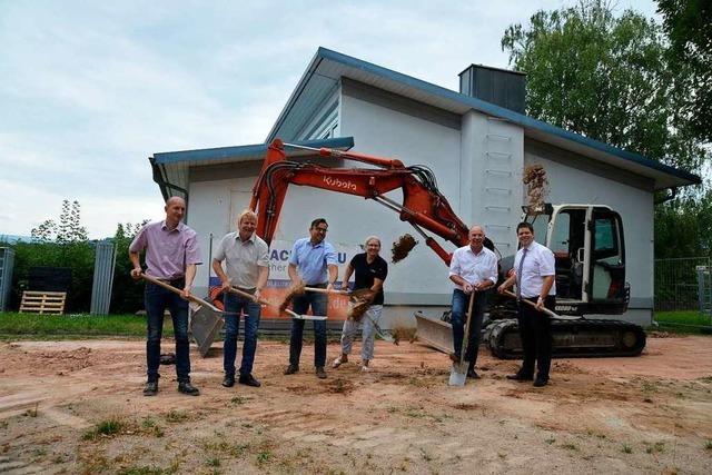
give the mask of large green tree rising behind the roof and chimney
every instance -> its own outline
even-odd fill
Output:
[[[527,113],[557,127],[700,170],[705,151],[681,113],[690,71],[671,67],[662,28],[603,0],[538,11],[502,38],[527,75]]]

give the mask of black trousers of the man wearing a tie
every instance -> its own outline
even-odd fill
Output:
[[[537,298],[527,298],[536,304]],[[556,297],[550,295],[544,299],[544,306],[554,310]],[[548,370],[552,366],[552,329],[551,317],[536,308],[520,303],[520,337],[522,338],[522,360],[521,373],[524,376],[534,376],[534,363],[536,363],[538,379],[548,379]]]

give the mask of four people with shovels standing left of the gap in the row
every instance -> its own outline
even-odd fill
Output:
[[[159,279],[180,290],[180,295],[154,283],[146,283],[145,303],[148,316],[146,342],[147,383],[146,396],[158,392],[158,368],[160,364],[160,340],[164,326],[164,313],[168,308],[174,324],[176,339],[176,374],[178,390],[197,396],[199,389],[190,383],[190,357],[188,340],[188,298],[191,296],[196,266],[201,264],[200,249],[196,231],[182,222],[186,202],[180,197],[166,201],[166,219],[146,225],[129,247],[129,257],[134,265],[131,277],[140,279],[142,274]],[[255,232],[257,215],[251,210],[243,211],[237,220],[237,230],[228,232],[219,243],[211,266],[220,279],[220,289],[225,304],[225,340],[222,386],[233,387],[236,382],[235,360],[237,357],[237,337],[240,315],[245,315],[245,338],[243,358],[237,382],[246,386],[259,387],[253,375],[257,349],[257,330],[260,319],[260,295],[269,277],[269,248]],[[288,275],[295,286],[335,290],[338,278],[337,254],[332,244],[325,240],[328,224],[317,218],[309,226],[309,237],[298,239],[291,249],[288,261]],[[146,270],[140,265],[140,253],[146,250]],[[365,253],[357,254],[349,261],[342,290],[348,289],[348,280],[355,276],[354,289],[369,289],[375,295],[373,305],[363,317],[362,365],[368,368],[373,358],[375,327],[383,309],[383,281],[387,275],[387,264],[378,256],[380,239],[370,236],[365,243]],[[237,291],[230,291],[235,289]],[[293,300],[297,315],[307,314],[309,308],[315,316],[326,316],[328,295],[318,290],[305,291]],[[299,370],[305,319],[291,319],[289,343],[289,365],[285,375]],[[336,368],[346,363],[352,342],[358,329],[358,323],[347,320],[342,335],[342,356],[334,362]],[[318,378],[326,378],[326,321],[314,320],[315,357],[314,366]]]

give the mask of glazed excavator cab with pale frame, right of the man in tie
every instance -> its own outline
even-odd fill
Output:
[[[556,310],[620,315],[627,308],[621,216],[607,206],[523,207],[534,236],[556,258]]]

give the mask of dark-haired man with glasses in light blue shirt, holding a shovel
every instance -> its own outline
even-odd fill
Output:
[[[332,290],[338,276],[336,249],[325,241],[329,225],[324,218],[312,221],[309,237],[298,239],[291,248],[287,273],[294,285],[303,280],[307,287],[319,287]],[[313,315],[326,315],[328,298],[326,294],[307,291],[295,297],[293,309],[297,314],[306,314],[312,307]],[[289,338],[289,366],[285,375],[293,375],[299,370],[301,356],[301,335],[304,321],[291,320],[291,337]],[[314,320],[314,366],[318,378],[326,378],[326,321]]]

